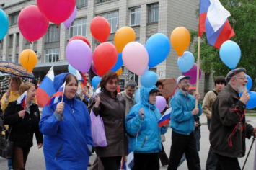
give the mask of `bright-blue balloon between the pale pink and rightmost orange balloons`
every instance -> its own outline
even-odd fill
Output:
[[[149,53],[149,67],[155,67],[162,63],[168,57],[171,50],[168,37],[162,33],[149,37],[145,47]]]

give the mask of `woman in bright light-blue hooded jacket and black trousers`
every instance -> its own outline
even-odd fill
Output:
[[[129,149],[134,151],[133,170],[157,170],[159,151],[162,150],[160,135],[167,132],[169,126],[158,126],[161,118],[156,108],[156,86],[141,87],[141,102],[133,106],[125,119],[125,128],[130,135]]]

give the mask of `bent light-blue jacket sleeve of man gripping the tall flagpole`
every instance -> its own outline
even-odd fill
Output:
[[[172,107],[171,119],[174,119],[175,122],[183,122],[193,117],[192,112],[182,110],[182,105],[177,102],[175,97],[172,98],[169,105]]]

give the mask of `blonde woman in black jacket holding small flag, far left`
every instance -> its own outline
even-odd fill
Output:
[[[43,135],[39,131],[40,112],[35,99],[35,85],[29,82],[22,84],[19,93],[27,91],[25,107],[10,102],[4,111],[4,124],[10,126],[9,140],[14,142],[13,169],[25,169],[28,153],[33,143],[33,135],[37,139],[37,147],[43,146]],[[19,99],[19,98],[18,98]]]

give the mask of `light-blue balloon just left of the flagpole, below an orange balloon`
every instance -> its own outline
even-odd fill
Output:
[[[177,60],[177,65],[182,73],[189,71],[193,67],[194,63],[194,55],[189,51],[185,51],[183,55]]]

